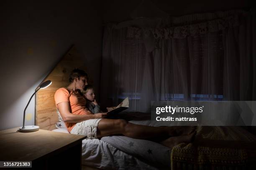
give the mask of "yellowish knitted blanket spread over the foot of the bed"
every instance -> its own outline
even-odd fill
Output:
[[[202,126],[193,143],[172,149],[172,170],[254,170],[256,136],[241,127]]]

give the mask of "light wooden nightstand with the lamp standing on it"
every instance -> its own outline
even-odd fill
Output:
[[[17,130],[0,131],[0,161],[32,161],[29,170],[81,169],[85,136],[48,130],[30,133]]]

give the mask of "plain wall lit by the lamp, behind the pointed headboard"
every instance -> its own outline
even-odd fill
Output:
[[[73,44],[87,61],[98,91],[100,2],[9,0],[1,2],[0,22],[0,130],[22,125],[23,110],[35,88]],[[34,108],[33,98],[26,125],[34,124]]]

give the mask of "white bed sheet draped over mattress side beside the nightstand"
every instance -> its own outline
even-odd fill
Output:
[[[64,128],[52,131],[68,133]],[[104,170],[157,170],[138,158],[128,155],[112,145],[98,139],[82,140],[82,165]]]

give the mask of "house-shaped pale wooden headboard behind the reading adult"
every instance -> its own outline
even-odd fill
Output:
[[[59,63],[43,80],[51,80],[52,84],[40,89],[36,94],[35,124],[44,130],[56,129],[55,123],[58,122],[58,115],[54,101],[54,93],[60,87],[69,85],[69,74],[74,68],[86,71],[85,63],[73,46]]]

